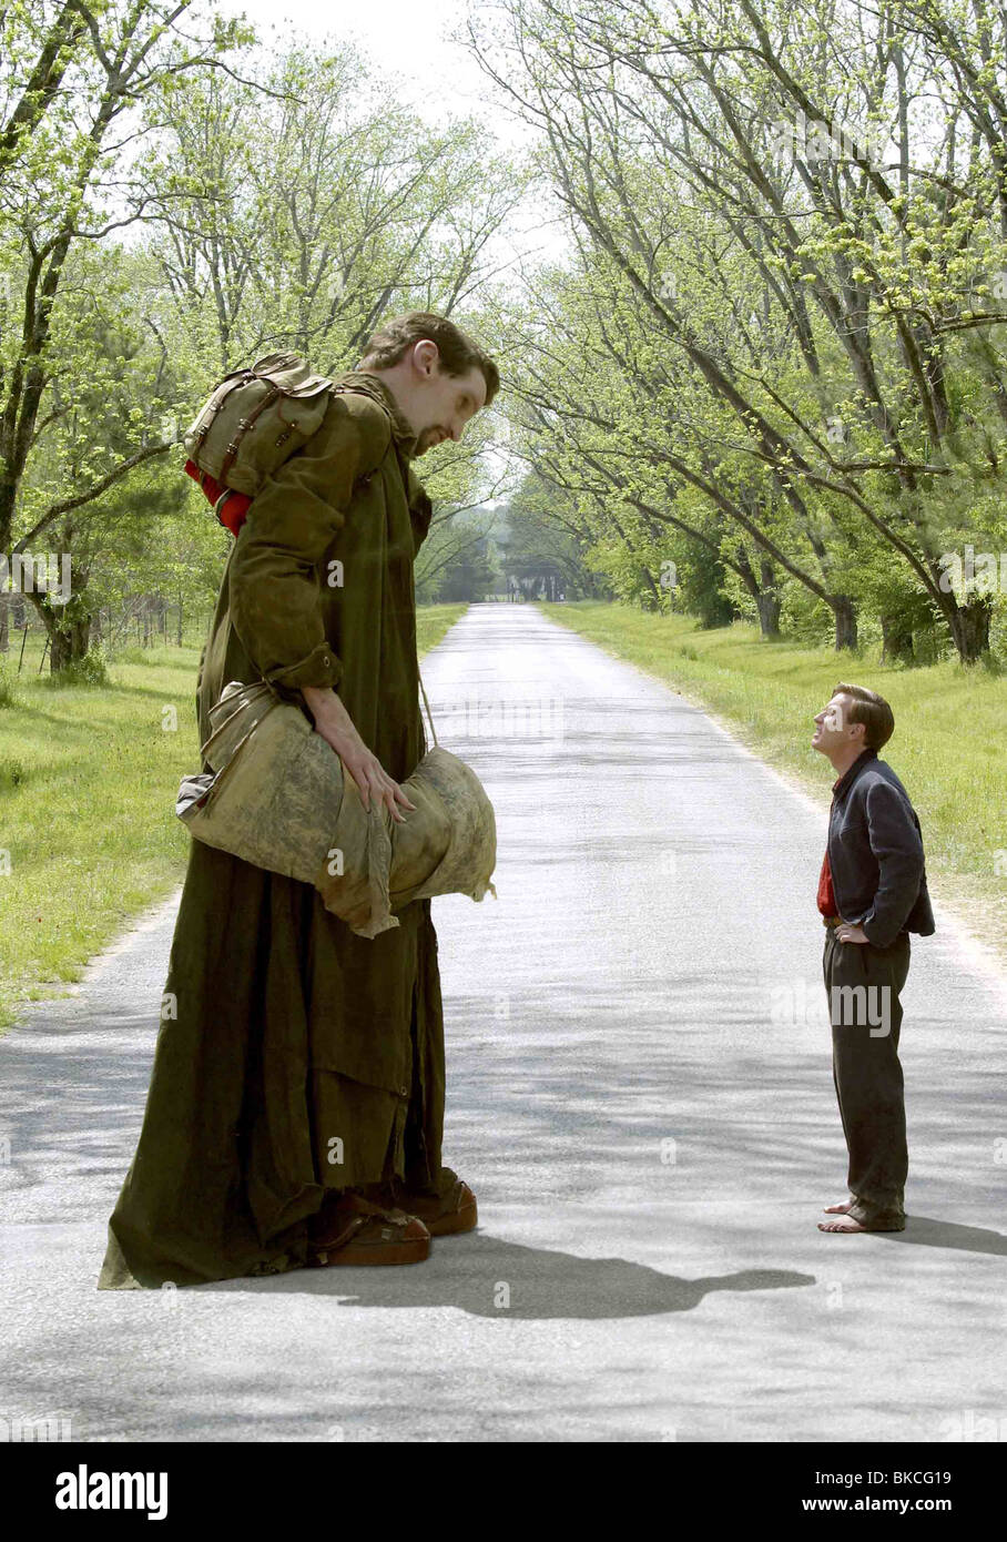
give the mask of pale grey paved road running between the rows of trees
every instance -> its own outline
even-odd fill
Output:
[[[173,901],[0,1039],[0,1420],[96,1442],[1007,1439],[1002,976],[942,908],[913,941],[911,1218],[823,1237],[845,1149],[822,806],[534,608],[473,606],[424,680],[500,828],[498,899],[435,901],[446,1158],[480,1231],[412,1269],[96,1291]]]

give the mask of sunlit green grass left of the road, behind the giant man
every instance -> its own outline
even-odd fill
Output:
[[[419,654],[464,611],[421,608]],[[106,686],[52,689],[31,641],[20,675],[17,648],[0,666],[0,1030],[26,1001],[65,993],[130,917],[180,884],[190,837],[174,797],[199,769],[202,641],[125,649]]]

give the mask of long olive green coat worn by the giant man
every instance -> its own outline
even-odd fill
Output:
[[[352,393],[267,480],[230,552],[200,660],[200,743],[228,680],[265,677],[301,705],[301,686],[330,685],[402,782],[427,748],[413,558],[432,510],[381,378],[341,379]],[[430,901],[398,919],[359,938],[312,885],[193,840],[100,1289],[298,1268],[327,1189],[453,1180]]]

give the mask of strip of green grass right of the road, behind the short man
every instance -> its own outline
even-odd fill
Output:
[[[720,717],[762,760],[817,794],[823,814],[834,773],[810,748],[811,719],[840,680],[879,691],[896,719],[882,759],[919,814],[930,890],[1007,961],[1007,675],[956,663],[893,668],[876,649],[766,643],[757,626],[702,631],[689,617],[626,604],[538,608]]]

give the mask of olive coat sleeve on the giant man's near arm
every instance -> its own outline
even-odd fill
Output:
[[[336,686],[318,564],[345,521],[358,480],[384,460],[392,426],[376,402],[335,396],[324,423],[251,500],[230,567],[230,617],[265,680]]]

